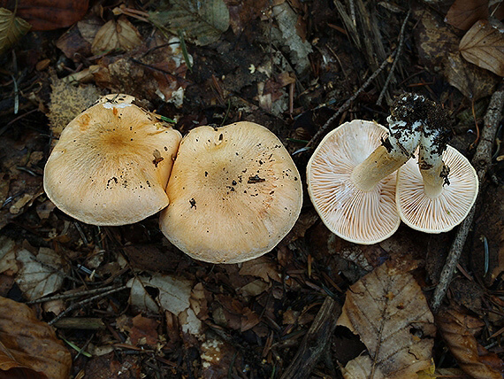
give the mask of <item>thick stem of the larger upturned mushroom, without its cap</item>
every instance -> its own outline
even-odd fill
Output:
[[[404,165],[420,141],[422,123],[388,118],[390,135],[361,164],[355,166],[350,179],[359,190],[369,192],[382,179]]]

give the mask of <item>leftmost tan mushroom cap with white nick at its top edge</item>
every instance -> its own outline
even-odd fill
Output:
[[[168,205],[164,192],[181,135],[133,104],[107,95],[61,134],[44,169],[50,200],[77,220],[125,225]]]

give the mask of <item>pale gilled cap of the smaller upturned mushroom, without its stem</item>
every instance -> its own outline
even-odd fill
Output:
[[[462,153],[451,146],[443,152],[449,167],[449,185],[443,186],[438,197],[427,197],[424,180],[416,159],[398,170],[396,203],[401,220],[410,228],[425,233],[447,232],[460,224],[470,212],[477,197],[477,174]]]

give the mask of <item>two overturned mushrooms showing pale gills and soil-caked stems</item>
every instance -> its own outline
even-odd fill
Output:
[[[476,200],[477,175],[447,146],[447,120],[438,104],[407,94],[391,108],[388,135],[364,120],[326,135],[309,159],[307,182],[327,228],[356,244],[376,244],[401,220],[427,233],[462,222]]]

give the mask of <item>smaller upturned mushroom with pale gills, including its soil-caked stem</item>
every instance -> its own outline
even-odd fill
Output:
[[[425,102],[427,118],[415,159],[399,169],[396,203],[401,220],[425,233],[442,233],[462,222],[477,197],[477,173],[462,153],[447,145],[448,117]]]

